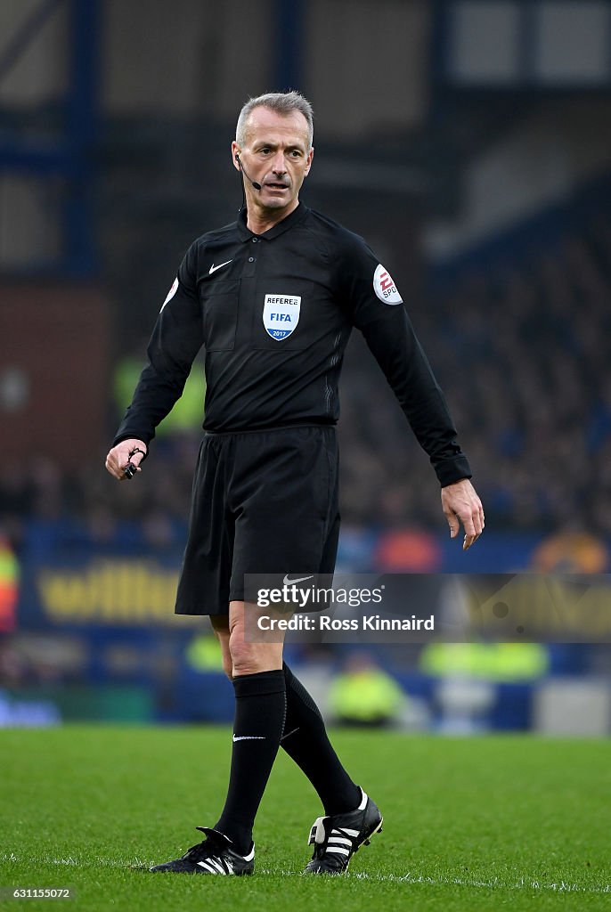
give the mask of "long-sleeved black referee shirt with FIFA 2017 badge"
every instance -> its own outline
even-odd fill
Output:
[[[264,234],[203,234],[161,308],[114,443],[152,440],[205,347],[204,430],[335,424],[352,326],[384,371],[442,485],[471,478],[399,292],[368,245],[300,203]]]

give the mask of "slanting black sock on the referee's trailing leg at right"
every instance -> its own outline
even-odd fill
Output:
[[[331,747],[316,703],[288,665],[283,665],[283,668],[286,720],[280,744],[314,785],[325,807],[325,814],[354,811],[361,800],[360,789],[352,782]]]

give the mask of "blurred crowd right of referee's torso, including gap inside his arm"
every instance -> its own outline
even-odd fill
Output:
[[[493,528],[611,534],[610,299],[611,227],[598,222],[521,270],[482,266],[409,306]],[[435,527],[427,460],[370,359],[355,360],[343,390],[345,516]]]

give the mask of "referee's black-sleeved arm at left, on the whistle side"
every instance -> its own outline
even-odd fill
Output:
[[[193,244],[161,307],[147,349],[148,362],[112,442],[109,457],[121,442],[144,444],[148,451],[155,428],[181,397],[193,360],[203,343],[196,275],[197,248]],[[123,455],[120,454],[121,459]]]

